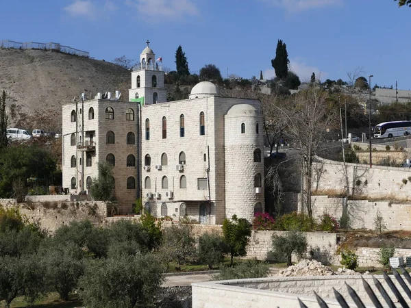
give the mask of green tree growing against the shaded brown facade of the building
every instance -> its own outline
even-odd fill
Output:
[[[95,200],[110,201],[113,198],[113,167],[108,163],[99,163],[99,177],[91,184],[90,193]]]

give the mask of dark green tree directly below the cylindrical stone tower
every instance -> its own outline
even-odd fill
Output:
[[[251,235],[251,224],[245,218],[237,218],[236,215],[232,220],[225,218],[223,222],[224,242],[227,245],[227,251],[230,255],[230,265],[233,265],[234,257],[244,257],[247,255],[245,248]]]

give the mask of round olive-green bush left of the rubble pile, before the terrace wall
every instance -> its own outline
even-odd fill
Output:
[[[307,252],[307,238],[299,231],[288,231],[285,235],[273,234],[273,250],[269,252],[269,257],[276,261],[287,261],[287,266],[291,266],[292,253],[302,258]]]

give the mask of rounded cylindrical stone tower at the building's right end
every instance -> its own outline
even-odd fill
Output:
[[[225,214],[246,218],[264,211],[264,141],[262,114],[238,104],[225,118]]]

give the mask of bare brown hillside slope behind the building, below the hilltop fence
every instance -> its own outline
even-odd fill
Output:
[[[101,60],[53,51],[0,49],[0,90],[7,105],[21,105],[26,112],[61,106],[84,89],[92,93],[121,90],[128,101],[130,71]]]

